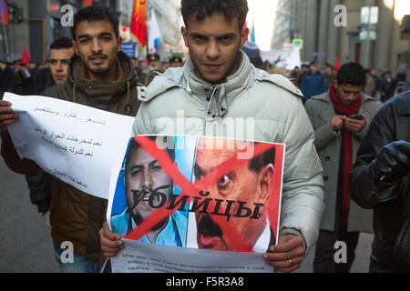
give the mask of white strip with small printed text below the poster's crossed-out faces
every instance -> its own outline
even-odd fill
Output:
[[[273,273],[261,253],[159,246],[124,239],[111,258],[113,273]]]

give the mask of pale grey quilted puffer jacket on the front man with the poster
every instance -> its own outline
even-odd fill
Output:
[[[220,85],[200,80],[189,59],[148,87],[138,87],[143,103],[133,135],[208,135],[285,144],[280,235],[301,236],[308,252],[318,237],[323,178],[301,97],[289,79],[256,69],[244,53],[237,71]]]

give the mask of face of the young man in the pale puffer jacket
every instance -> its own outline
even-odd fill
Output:
[[[220,12],[202,21],[193,15],[187,26],[181,28],[181,33],[185,45],[190,49],[195,73],[212,85],[226,82],[226,78],[238,68],[240,48],[246,41],[249,29],[240,31],[238,17],[228,21]]]

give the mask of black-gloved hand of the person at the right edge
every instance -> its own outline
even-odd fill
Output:
[[[374,174],[386,183],[398,182],[410,173],[410,143],[395,141],[382,148],[377,157]]]

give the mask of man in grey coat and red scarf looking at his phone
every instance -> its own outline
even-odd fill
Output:
[[[316,137],[314,146],[323,166],[326,206],[313,262],[315,273],[349,272],[359,232],[373,232],[373,213],[350,200],[348,186],[357,149],[382,105],[362,93],[364,82],[362,65],[342,65],[328,92],[313,96],[305,104]],[[335,263],[336,241],[346,243],[347,262]]]

